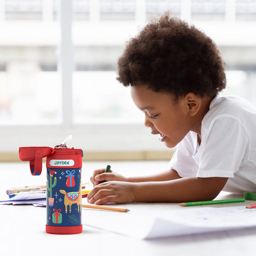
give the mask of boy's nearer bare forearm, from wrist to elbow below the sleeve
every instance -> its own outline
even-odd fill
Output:
[[[172,181],[134,183],[137,202],[195,202],[213,200],[228,178],[181,178]]]

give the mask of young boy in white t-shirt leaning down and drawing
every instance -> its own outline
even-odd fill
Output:
[[[219,96],[224,66],[212,39],[169,13],[130,39],[117,80],[130,86],[145,126],[177,150],[170,169],[151,177],[95,170],[87,200],[190,202],[212,200],[222,190],[256,191],[256,108]]]

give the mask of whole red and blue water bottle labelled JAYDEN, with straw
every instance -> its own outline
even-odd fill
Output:
[[[69,135],[60,145],[21,147],[22,161],[30,161],[32,175],[40,175],[42,159],[46,157],[46,232],[49,234],[79,234],[82,232],[82,150],[67,148]]]

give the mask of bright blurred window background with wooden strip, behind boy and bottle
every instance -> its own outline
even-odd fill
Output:
[[[124,43],[165,11],[217,43],[223,94],[256,105],[256,0],[1,0],[0,160],[70,133],[87,160],[170,159],[116,81]]]

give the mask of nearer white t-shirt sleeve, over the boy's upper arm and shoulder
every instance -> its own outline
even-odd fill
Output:
[[[233,117],[220,117],[209,127],[209,135],[202,141],[197,177],[234,177],[246,153],[246,130]]]

